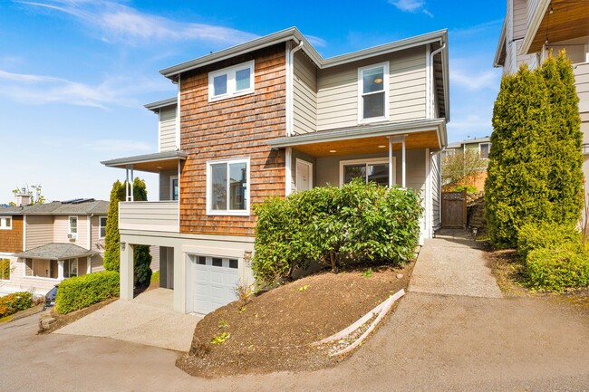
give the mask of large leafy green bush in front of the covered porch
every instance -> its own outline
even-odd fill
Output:
[[[352,261],[404,263],[418,243],[422,213],[414,192],[362,180],[271,197],[254,210],[252,270],[266,284],[311,262],[332,269]]]

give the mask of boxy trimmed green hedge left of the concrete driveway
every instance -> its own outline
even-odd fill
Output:
[[[119,295],[119,272],[103,271],[77,276],[59,284],[55,310],[69,313]]]

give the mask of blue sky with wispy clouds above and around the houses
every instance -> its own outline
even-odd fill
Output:
[[[450,141],[491,132],[492,67],[506,2],[0,1],[0,203],[41,184],[48,200],[108,199],[124,170],[101,160],[157,152],[143,104],[175,95],[159,70],[296,26],[323,57],[449,29]],[[150,199],[157,177],[144,175]]]

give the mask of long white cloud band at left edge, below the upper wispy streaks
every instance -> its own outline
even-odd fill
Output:
[[[66,103],[107,109],[112,106],[138,107],[134,98],[145,91],[169,91],[160,81],[108,78],[95,85],[53,76],[0,70],[0,95],[29,105]]]

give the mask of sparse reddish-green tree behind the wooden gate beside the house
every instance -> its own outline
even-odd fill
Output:
[[[442,159],[442,184],[449,188],[468,184],[469,180],[487,168],[487,164],[487,159],[480,158],[478,151],[474,149],[447,155]]]

